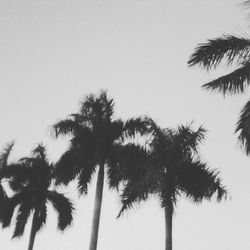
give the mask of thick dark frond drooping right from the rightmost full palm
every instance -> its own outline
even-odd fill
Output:
[[[226,198],[227,191],[221,184],[219,173],[209,169],[199,159],[184,162],[178,168],[177,187],[194,202],[210,200],[216,195],[218,201]]]

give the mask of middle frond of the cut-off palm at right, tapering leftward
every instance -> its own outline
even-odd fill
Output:
[[[242,93],[249,84],[250,62],[245,62],[235,71],[208,82],[202,87],[207,90],[221,92],[225,95]]]

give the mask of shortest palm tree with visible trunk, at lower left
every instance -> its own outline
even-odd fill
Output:
[[[3,228],[11,223],[18,207],[13,238],[23,235],[28,217],[33,212],[28,250],[33,249],[36,233],[45,225],[47,202],[51,202],[58,213],[58,229],[64,230],[72,222],[71,201],[56,190],[50,190],[54,166],[48,162],[45,148],[38,145],[31,157],[21,158],[3,169],[14,195],[8,199],[3,216]]]

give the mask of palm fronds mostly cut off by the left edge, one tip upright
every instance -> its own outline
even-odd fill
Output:
[[[13,146],[14,146],[14,141],[7,143],[2,153],[0,154],[0,180],[1,181],[3,179],[2,171],[8,164],[8,158],[9,158],[9,155]],[[7,199],[8,199],[8,196],[1,182],[0,183],[0,221],[2,221],[2,218],[3,218],[4,206],[7,202]]]

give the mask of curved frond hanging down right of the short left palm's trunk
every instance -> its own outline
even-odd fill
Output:
[[[73,221],[73,203],[63,194],[56,191],[48,192],[48,200],[51,201],[58,213],[58,229],[63,231]]]

